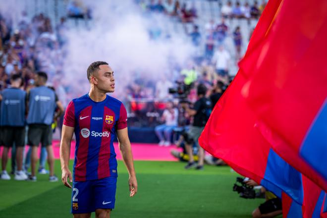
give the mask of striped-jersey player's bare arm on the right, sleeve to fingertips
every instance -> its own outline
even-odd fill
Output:
[[[137,180],[133,163],[133,156],[131,150],[131,143],[128,138],[127,127],[117,130],[118,145],[123,161],[127,167],[129,173],[129,191],[130,197],[133,197],[137,193]]]

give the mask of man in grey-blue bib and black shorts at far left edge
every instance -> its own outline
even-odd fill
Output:
[[[2,127],[2,173],[0,178],[9,180],[6,169],[9,148],[15,143],[17,171],[15,180],[27,179],[26,174],[22,171],[23,151],[25,146],[25,98],[26,92],[19,89],[22,85],[22,78],[13,74],[10,79],[11,88],[1,92],[1,113],[0,126]]]

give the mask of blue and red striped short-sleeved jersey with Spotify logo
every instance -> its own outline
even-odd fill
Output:
[[[74,127],[76,137],[73,180],[87,181],[117,176],[117,160],[113,147],[116,131],[127,127],[124,105],[107,95],[94,102],[89,94],[72,100],[63,124]]]

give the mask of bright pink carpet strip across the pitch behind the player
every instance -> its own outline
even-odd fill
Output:
[[[59,141],[53,141],[54,157],[56,159],[59,159],[59,143]],[[113,145],[117,154],[117,160],[121,160],[121,155],[118,149],[118,143],[113,143]],[[27,148],[28,146],[26,146],[26,152]],[[172,148],[175,148],[175,146],[159,147],[158,144],[132,143],[133,157],[134,160],[137,161],[177,161],[177,159],[170,155],[170,150]],[[72,141],[70,149],[71,159],[74,159],[74,152],[75,141]],[[2,147],[0,147],[0,154],[2,154]]]

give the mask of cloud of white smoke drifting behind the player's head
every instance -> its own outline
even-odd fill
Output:
[[[89,89],[86,69],[93,61],[109,62],[115,72],[117,96],[133,80],[133,72],[155,80],[171,70],[171,60],[182,66],[194,55],[189,38],[183,32],[176,34],[175,23],[166,15],[145,15],[132,0],[91,2],[93,20],[89,27],[80,22],[65,34],[64,80],[71,81],[78,95]],[[162,30],[156,40],[149,34],[154,27]]]

